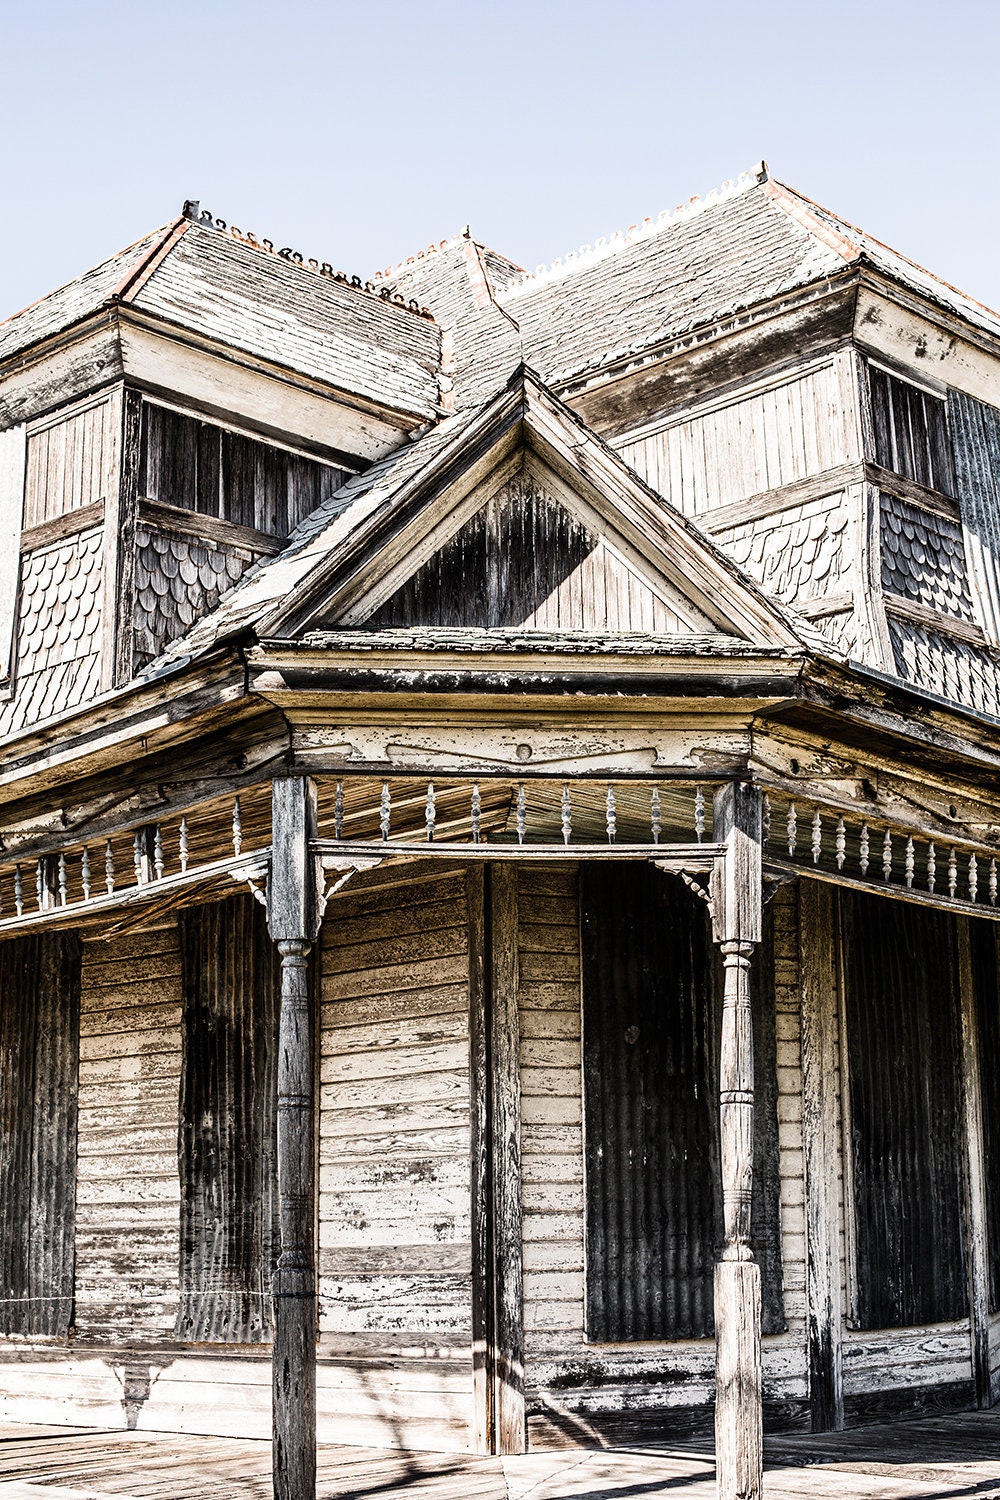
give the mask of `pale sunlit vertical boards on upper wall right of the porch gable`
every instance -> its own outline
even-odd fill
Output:
[[[861,452],[843,358],[615,447],[688,516],[850,464]]]

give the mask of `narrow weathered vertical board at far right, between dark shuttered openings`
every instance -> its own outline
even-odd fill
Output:
[[[958,993],[961,1002],[961,1068],[966,1144],[966,1240],[969,1245],[969,1329],[976,1406],[991,1404],[990,1382],[990,1244],[987,1233],[987,1160],[982,1137],[979,1017],[969,918],[957,918]]]

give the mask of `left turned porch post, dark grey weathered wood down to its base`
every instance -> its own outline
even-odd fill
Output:
[[[271,1466],[274,1500],[316,1494],[316,1268],[313,1250],[313,1023],[309,950],[319,930],[315,788],[307,777],[271,788],[267,922],[282,958],[277,1035],[277,1190],[282,1252],[271,1281]]]

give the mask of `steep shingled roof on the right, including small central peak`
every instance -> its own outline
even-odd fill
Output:
[[[417,290],[442,327],[456,328],[459,402],[465,388],[472,399],[478,394],[472,366],[501,336],[496,312],[484,310],[484,298],[475,306],[469,302],[472,248],[490,308],[510,320],[505,340],[555,382],[861,264],[1000,336],[997,314],[777,182],[762,162],[703,200],[645,219],[532,274],[517,276],[513,262],[468,234],[381,273],[397,288]]]

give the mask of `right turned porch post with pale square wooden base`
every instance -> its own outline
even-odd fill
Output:
[[[750,960],[760,942],[762,872],[757,788],[729,783],[715,796],[715,840],[726,844],[712,891],[726,988],[720,1047],[723,1220],[715,1266],[715,1472],[720,1500],[762,1492],[760,1266],[750,1246],[754,1174],[754,1044]]]

